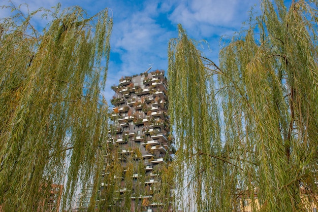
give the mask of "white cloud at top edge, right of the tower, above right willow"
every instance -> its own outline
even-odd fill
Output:
[[[255,3],[249,0],[184,0],[169,18],[175,24],[181,23],[188,32],[195,32],[195,37],[226,34],[241,26]]]

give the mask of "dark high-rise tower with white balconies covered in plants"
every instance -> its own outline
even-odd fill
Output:
[[[161,176],[167,174],[174,148],[164,71],[123,77],[112,89],[115,127],[101,187],[104,209],[167,211],[172,185],[167,187]]]

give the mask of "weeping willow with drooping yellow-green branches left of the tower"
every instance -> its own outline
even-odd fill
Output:
[[[6,7],[13,15],[0,25],[0,205],[44,210],[51,185],[65,183],[70,209],[78,184],[98,182],[104,165],[112,18],[20,7]],[[51,20],[42,32],[31,24],[38,14]]]

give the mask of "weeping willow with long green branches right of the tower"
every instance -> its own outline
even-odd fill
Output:
[[[177,207],[318,205],[317,5],[263,0],[261,16],[220,50],[219,65],[179,25],[168,73]]]

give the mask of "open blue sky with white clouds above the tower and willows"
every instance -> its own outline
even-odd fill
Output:
[[[94,15],[104,8],[113,14],[111,55],[108,69],[105,98],[110,100],[110,89],[118,84],[121,76],[130,76],[151,70],[167,71],[168,42],[178,35],[177,24],[181,23],[189,37],[206,40],[204,54],[218,63],[220,37],[231,36],[238,31],[243,21],[248,21],[253,6],[260,11],[259,0],[116,0],[116,1],[67,1],[67,0],[13,0],[16,6],[27,3],[29,10],[39,7],[51,8],[61,3],[62,8],[78,5]],[[2,1],[1,5],[8,5]],[[10,15],[1,11],[0,17]],[[39,20],[41,24],[41,20]]]

